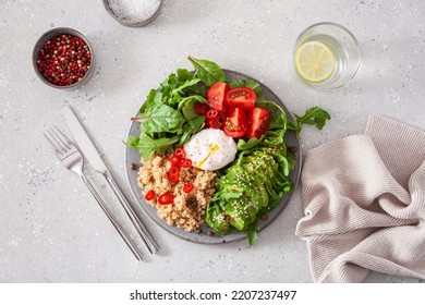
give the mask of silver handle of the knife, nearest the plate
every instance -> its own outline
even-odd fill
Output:
[[[159,251],[158,244],[156,243],[156,241],[154,240],[149,231],[147,231],[146,227],[143,224],[143,222],[136,215],[135,210],[133,209],[132,205],[125,198],[124,194],[122,194],[120,187],[117,185],[112,175],[110,173],[105,174],[105,178],[108,181],[111,188],[113,190],[113,192],[116,193],[117,197],[119,198],[122,207],[124,208],[125,212],[127,213],[134,227],[136,228],[137,233],[141,235],[146,247],[149,249],[151,254],[158,252]]]

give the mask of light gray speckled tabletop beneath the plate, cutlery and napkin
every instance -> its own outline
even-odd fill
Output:
[[[130,195],[121,143],[129,118],[166,75],[191,68],[189,54],[258,78],[295,113],[329,110],[323,132],[305,130],[303,149],[362,133],[372,113],[425,130],[424,13],[422,0],[166,0],[153,24],[129,28],[101,1],[0,0],[0,282],[311,282],[306,246],[294,236],[299,191],[252,248],[193,244],[146,220],[163,251],[137,263],[41,133],[65,130],[61,107],[71,105]],[[292,68],[298,34],[320,21],[345,25],[363,49],[359,75],[338,91],[307,88]],[[58,26],[81,30],[95,49],[95,74],[78,89],[52,89],[32,70],[35,41]],[[417,282],[377,273],[366,281]]]

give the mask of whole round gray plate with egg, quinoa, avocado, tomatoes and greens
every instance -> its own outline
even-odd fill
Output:
[[[323,127],[316,108],[292,115],[264,84],[189,58],[151,89],[132,118],[125,169],[136,202],[186,241],[247,239],[274,222],[301,172],[301,123]]]

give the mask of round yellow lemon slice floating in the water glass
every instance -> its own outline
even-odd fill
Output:
[[[335,54],[324,42],[304,42],[295,52],[295,68],[306,82],[325,82],[333,74],[335,66]]]

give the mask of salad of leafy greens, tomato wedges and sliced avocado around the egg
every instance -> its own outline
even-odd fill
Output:
[[[253,244],[259,229],[257,219],[294,190],[289,174],[296,158],[294,148],[284,141],[286,133],[293,131],[300,137],[303,124],[321,130],[330,115],[313,107],[291,121],[279,103],[266,99],[257,82],[228,80],[211,61],[189,60],[194,73],[179,69],[149,91],[139,115],[132,119],[139,122],[141,135],[129,136],[125,144],[147,160],[157,151],[171,152],[183,146],[205,127],[222,129],[235,141],[238,152],[232,163],[217,171],[216,193],[205,222],[221,235],[233,230],[245,232]],[[224,93],[227,102],[222,103],[216,97]],[[234,107],[227,110],[231,99]],[[212,112],[203,111],[203,106]],[[232,112],[234,109],[238,111]]]

